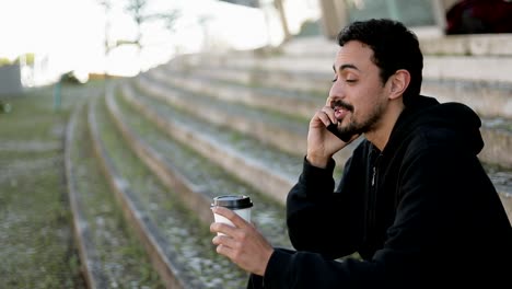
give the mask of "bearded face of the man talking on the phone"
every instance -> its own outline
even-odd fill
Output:
[[[373,50],[357,41],[345,44],[336,55],[327,105],[335,109],[342,135],[376,130],[386,109],[386,90],[372,57]]]

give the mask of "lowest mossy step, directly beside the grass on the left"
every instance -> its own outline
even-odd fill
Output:
[[[66,180],[73,216],[74,240],[89,288],[119,285],[162,287],[144,247],[109,192],[101,166],[89,146],[85,105],[74,111],[66,134]],[[126,254],[130,252],[130,254]],[[141,278],[140,273],[146,271]]]

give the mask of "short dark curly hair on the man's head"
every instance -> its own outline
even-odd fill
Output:
[[[403,23],[388,19],[356,21],[346,26],[337,37],[339,46],[358,41],[373,50],[372,61],[381,70],[383,83],[398,69],[410,73],[409,86],[404,92],[404,104],[412,102],[420,94],[423,55],[418,37]]]

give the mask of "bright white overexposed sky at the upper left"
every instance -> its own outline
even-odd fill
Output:
[[[179,53],[196,53],[210,47],[252,49],[267,44],[277,45],[282,32],[277,12],[234,5],[216,0],[148,0],[149,12],[178,10],[181,18],[174,32],[161,23],[143,27],[144,49],[125,45],[105,57],[105,26],[109,38],[133,39],[137,31],[131,16],[125,12],[128,0],[112,0],[106,16],[98,0],[0,0],[0,58],[15,59],[33,53],[55,71],[83,71],[133,76],[168,61]],[[267,3],[270,1],[261,1]],[[288,1],[290,2],[290,1]],[[305,2],[294,0],[291,11],[307,13]],[[299,4],[298,4],[299,3]],[[305,9],[305,10],[304,10]],[[311,8],[310,8],[311,10]],[[269,18],[266,18],[268,16]],[[289,16],[290,28],[296,31],[301,13]],[[199,19],[207,25],[199,25]],[[270,19],[270,22],[266,20]],[[205,35],[208,35],[205,37]],[[211,49],[211,48],[210,48]]]

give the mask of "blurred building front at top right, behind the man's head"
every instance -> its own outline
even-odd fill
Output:
[[[318,0],[322,28],[328,38],[354,20],[388,18],[402,21],[420,36],[512,33],[510,0]],[[451,26],[449,26],[450,22]],[[454,24],[455,23],[455,24]],[[461,23],[461,24],[458,24]]]

